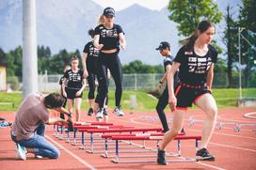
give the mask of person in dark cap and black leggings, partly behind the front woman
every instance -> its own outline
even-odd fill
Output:
[[[157,87],[158,90],[160,90],[161,87],[165,84],[165,82],[167,80],[168,71],[171,68],[174,57],[172,55],[170,55],[170,46],[167,41],[161,42],[159,47],[157,47],[155,50],[159,50],[160,54],[162,54],[165,57],[164,68],[166,70],[166,73],[162,77],[162,79],[159,81],[159,85]],[[179,83],[178,72],[176,72],[174,75],[174,87],[177,86],[178,83]],[[164,112],[167,105],[168,105],[168,86],[166,86],[165,90],[163,91],[162,95],[160,96],[160,98],[157,102],[156,108],[155,108],[156,112],[160,118],[160,121],[162,123],[162,126],[164,128],[163,132],[167,132],[169,130],[167,116]],[[182,130],[182,132],[184,133],[184,129]]]

